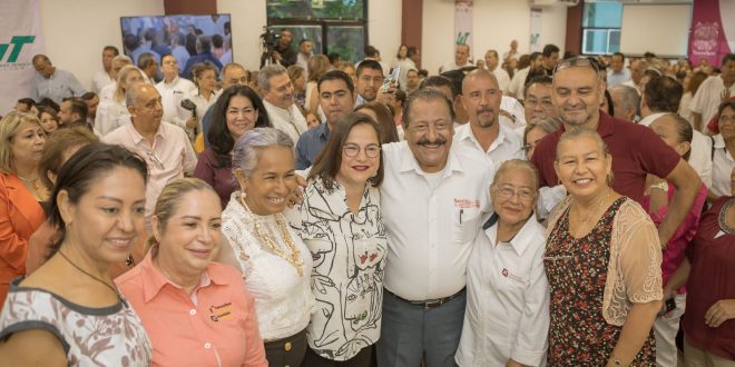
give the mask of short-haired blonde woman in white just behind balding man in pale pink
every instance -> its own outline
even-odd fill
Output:
[[[125,101],[125,92],[135,83],[144,82],[143,71],[128,65],[117,73],[117,85],[111,99],[102,100],[95,115],[95,132],[104,137],[112,130],[130,122],[130,113]]]

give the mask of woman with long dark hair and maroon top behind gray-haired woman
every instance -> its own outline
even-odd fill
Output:
[[[207,130],[209,147],[199,156],[193,176],[209,184],[225,208],[237,189],[232,156],[235,141],[254,128],[271,127],[271,121],[261,97],[245,86],[236,85],[225,89],[213,109],[212,123]]]

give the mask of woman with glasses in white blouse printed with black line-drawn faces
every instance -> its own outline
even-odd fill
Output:
[[[367,367],[380,337],[388,252],[380,137],[369,116],[344,117],[308,173],[302,204],[287,211],[314,259],[316,310],[304,366]]]

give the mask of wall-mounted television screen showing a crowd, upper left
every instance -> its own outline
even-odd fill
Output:
[[[140,54],[160,58],[173,54],[180,76],[188,75],[195,61],[209,61],[217,69],[233,61],[229,14],[121,17],[125,54],[138,65]]]

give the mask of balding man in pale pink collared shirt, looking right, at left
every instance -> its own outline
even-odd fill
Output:
[[[146,228],[149,230],[158,195],[169,181],[194,172],[196,153],[184,129],[161,123],[164,108],[154,86],[134,85],[125,93],[125,103],[130,112],[130,123],[102,137],[102,142],[120,145],[148,163]]]

